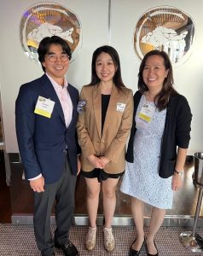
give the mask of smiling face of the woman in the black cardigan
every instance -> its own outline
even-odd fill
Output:
[[[142,78],[148,90],[161,90],[167,75],[168,69],[165,69],[164,58],[159,55],[149,56],[142,71]]]

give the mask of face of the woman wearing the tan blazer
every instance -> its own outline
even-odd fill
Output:
[[[102,52],[96,58],[96,75],[102,82],[109,82],[113,80],[116,67],[113,63],[112,57]]]

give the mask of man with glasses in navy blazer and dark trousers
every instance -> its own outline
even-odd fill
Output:
[[[71,50],[65,40],[44,38],[38,60],[44,75],[20,87],[15,104],[16,134],[26,179],[34,191],[34,232],[42,255],[78,255],[68,238],[74,210],[74,190],[80,163],[76,136],[78,90],[65,74]],[[56,203],[55,203],[56,202]],[[55,203],[55,242],[50,215]]]

